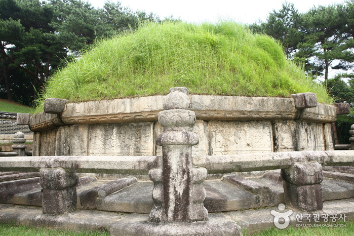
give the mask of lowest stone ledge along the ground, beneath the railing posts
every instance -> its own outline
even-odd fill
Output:
[[[261,229],[274,227],[274,216],[271,215],[271,210],[281,212],[278,207],[269,207],[255,210],[210,213],[209,222],[185,223],[185,225],[172,223],[170,224],[171,227],[167,230],[168,224],[147,223],[147,214],[117,214],[116,212],[96,210],[76,210],[63,216],[45,216],[42,215],[41,207],[0,204],[0,222],[30,225],[34,227],[75,230],[78,232],[81,232],[83,229],[106,229],[111,235],[156,235],[154,234],[156,232],[162,232],[158,235],[175,235],[177,232],[181,233],[178,235],[240,235],[237,234],[238,224],[244,231],[245,235],[247,235],[248,233],[255,233]],[[295,217],[296,214],[310,214],[311,216],[313,214],[328,214],[329,216],[337,214],[337,217],[339,217],[340,214],[345,214],[345,221],[353,221],[354,199],[324,202],[323,210],[318,212],[299,212],[290,208],[286,208],[284,212],[288,210],[293,211],[289,217],[291,226],[299,224],[314,224],[313,219],[311,219],[311,222],[309,223],[304,219],[303,222],[298,222]],[[323,222],[323,220],[321,220],[321,222],[316,224],[325,224],[323,227],[327,227],[326,224],[331,223],[331,219],[329,218],[328,222]],[[222,227],[218,227],[217,224]],[[214,227],[212,227],[213,225]],[[207,228],[207,230],[203,230],[201,226]],[[191,229],[185,229],[186,227],[190,227]],[[199,231],[198,234],[190,234],[189,230],[195,228],[198,228],[198,230],[201,231]],[[213,229],[214,231],[211,231],[210,229]],[[186,232],[189,232],[189,234]],[[230,232],[234,232],[234,234],[230,234]]]

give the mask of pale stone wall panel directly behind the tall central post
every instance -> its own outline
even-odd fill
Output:
[[[154,128],[156,137],[162,133],[162,126],[156,122]],[[192,146],[192,156],[208,155],[208,127],[207,123],[201,120],[196,120],[193,126],[193,132],[199,138],[199,144]],[[162,155],[162,148],[156,145],[156,155]]]

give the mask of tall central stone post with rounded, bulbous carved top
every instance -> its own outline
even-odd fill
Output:
[[[156,139],[156,144],[162,146],[162,169],[149,172],[154,182],[154,207],[149,222],[208,220],[208,211],[203,205],[207,170],[192,167],[192,145],[198,144],[199,139],[192,132],[195,113],[189,109],[188,90],[184,87],[170,89],[164,100],[164,111],[159,113],[163,133]]]

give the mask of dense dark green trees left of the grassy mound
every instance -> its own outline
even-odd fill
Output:
[[[95,9],[81,0],[0,0],[0,97],[30,105],[49,76],[96,38],[160,21],[119,2]]]

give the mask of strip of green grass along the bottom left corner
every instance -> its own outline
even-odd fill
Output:
[[[59,229],[34,228],[30,226],[18,226],[11,224],[0,224],[0,235],[7,236],[51,236],[51,235],[65,235],[65,236],[108,236],[107,231],[82,231],[80,233],[75,231],[64,231]]]

